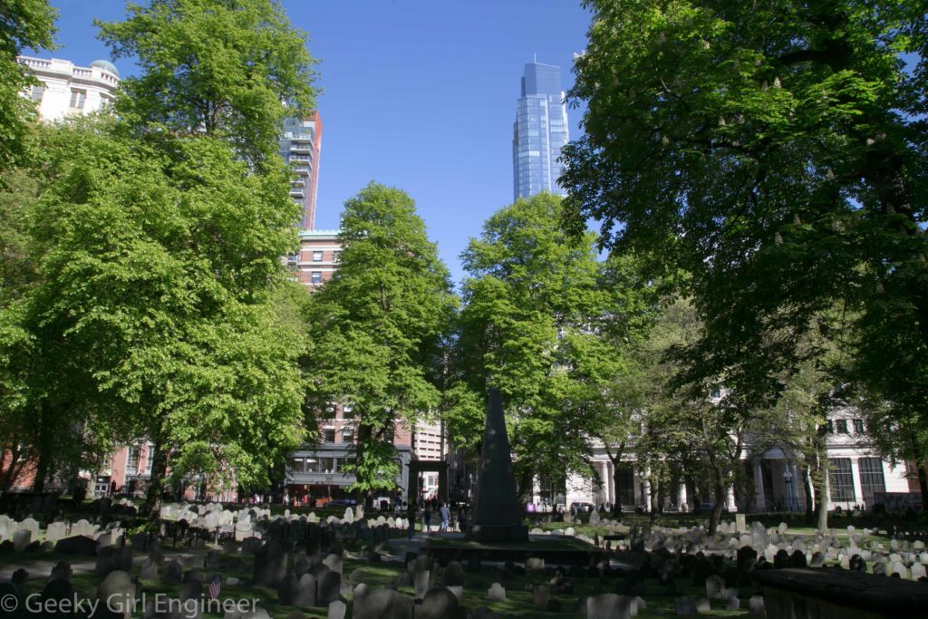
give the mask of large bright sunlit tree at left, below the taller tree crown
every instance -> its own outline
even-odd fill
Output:
[[[20,324],[87,385],[71,406],[155,445],[154,514],[168,471],[249,484],[303,439],[303,334],[277,317],[296,207],[286,171],[252,174],[224,140],[165,153],[111,123],[48,131]]]

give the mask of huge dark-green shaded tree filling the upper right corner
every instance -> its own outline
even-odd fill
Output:
[[[844,304],[857,379],[923,423],[928,82],[904,57],[924,50],[922,4],[586,5],[571,225],[692,274],[704,377],[738,368],[775,396],[813,318]]]

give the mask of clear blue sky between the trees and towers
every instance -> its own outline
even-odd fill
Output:
[[[122,0],[51,0],[51,56],[110,58],[92,19],[122,19]],[[458,255],[512,201],[512,122],[522,66],[561,66],[574,83],[589,14],[579,0],[284,0],[322,62],[322,157],[316,227],[374,180],[406,190],[455,281]],[[47,53],[44,56],[48,56]],[[133,71],[118,63],[123,75]],[[571,137],[581,110],[568,110]]]

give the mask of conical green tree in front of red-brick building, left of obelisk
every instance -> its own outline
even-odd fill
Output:
[[[393,433],[440,403],[442,342],[457,299],[400,189],[371,183],[348,200],[339,239],[339,268],[309,303],[308,398],[316,411],[353,406],[354,489],[393,490]]]

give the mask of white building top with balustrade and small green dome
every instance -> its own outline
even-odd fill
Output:
[[[120,82],[119,70],[109,60],[78,67],[58,58],[18,59],[41,83],[30,86],[23,96],[35,102],[39,118],[48,123],[106,108]]]

